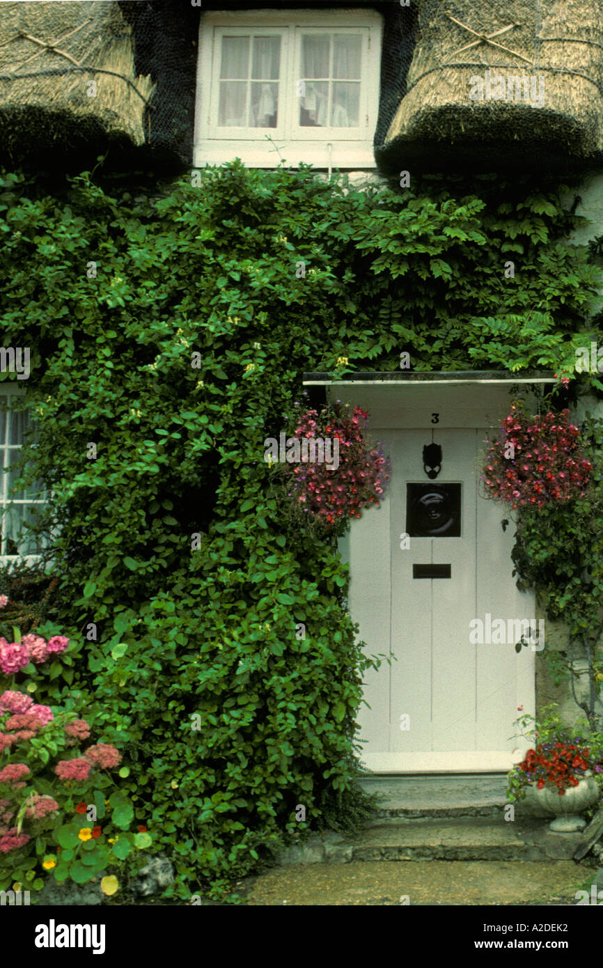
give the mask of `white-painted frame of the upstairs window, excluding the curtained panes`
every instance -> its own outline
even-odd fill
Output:
[[[280,33],[281,77],[277,128],[219,128],[221,38],[242,33]],[[301,35],[329,32],[362,38],[360,107],[357,128],[301,127],[297,80]],[[194,166],[222,165],[240,158],[248,167],[301,163],[317,168],[375,168],[373,138],[379,107],[383,18],[375,10],[251,10],[203,14],[199,25],[196,74]],[[268,140],[266,136],[272,138]]]

